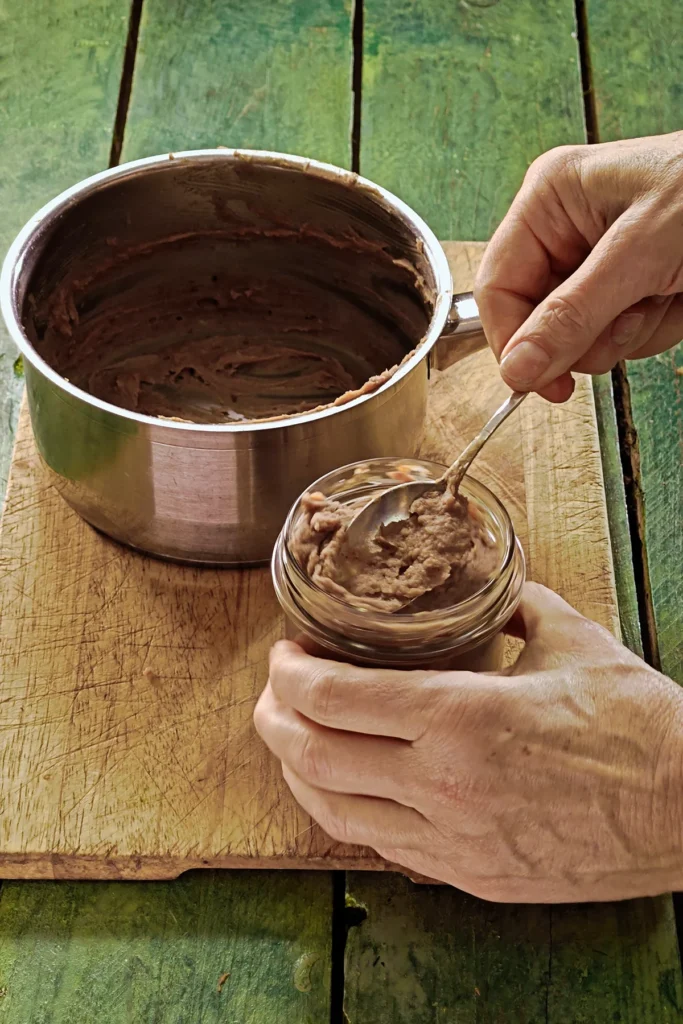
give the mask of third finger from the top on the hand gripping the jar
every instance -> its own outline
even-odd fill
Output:
[[[412,807],[318,790],[286,766],[283,775],[296,802],[338,843],[415,849],[433,842],[431,822]]]

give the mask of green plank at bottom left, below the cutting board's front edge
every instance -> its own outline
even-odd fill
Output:
[[[2,1024],[327,1024],[331,877],[5,883]]]

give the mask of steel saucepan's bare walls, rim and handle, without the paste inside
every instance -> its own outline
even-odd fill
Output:
[[[113,249],[234,233],[236,224],[244,240],[245,232],[276,234],[284,223],[362,239],[369,251],[415,268],[426,331],[376,390],[272,422],[169,422],[93,397],[41,352],[41,307],[68,276],[87,274]],[[353,173],[273,153],[167,154],[96,174],[29,221],[7,254],[0,289],[25,357],[36,442],[66,501],[124,544],[203,564],[266,561],[311,480],[371,457],[417,455],[430,361],[443,368],[485,344],[472,296],[454,297],[443,251],[409,207]]]

